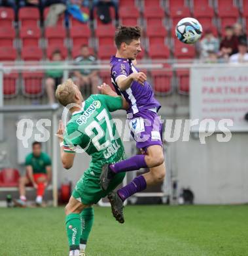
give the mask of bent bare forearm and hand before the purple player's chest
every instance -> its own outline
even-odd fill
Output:
[[[126,91],[131,85],[133,81],[137,81],[141,85],[144,85],[144,82],[147,80],[147,75],[143,72],[132,73],[125,77],[121,75],[116,79],[116,83],[121,91]]]

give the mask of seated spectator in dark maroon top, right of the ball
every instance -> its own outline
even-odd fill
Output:
[[[221,41],[220,55],[223,58],[228,58],[234,53],[238,53],[238,38],[234,35],[233,28],[226,26],[225,36]]]

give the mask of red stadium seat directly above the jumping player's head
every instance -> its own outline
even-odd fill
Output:
[[[119,9],[119,16],[121,19],[121,24],[126,26],[137,25],[137,19],[139,18],[139,11],[136,7],[123,6]]]

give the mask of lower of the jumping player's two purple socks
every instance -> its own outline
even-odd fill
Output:
[[[120,196],[121,200],[124,202],[127,198],[133,194],[140,192],[147,188],[147,182],[143,175],[140,175],[133,179],[129,184],[117,190],[117,194]]]

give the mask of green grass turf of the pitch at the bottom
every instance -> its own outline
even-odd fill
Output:
[[[67,254],[63,208],[0,209],[1,256]],[[248,206],[128,206],[118,224],[95,207],[87,256],[245,256]]]

